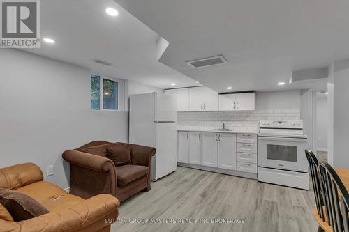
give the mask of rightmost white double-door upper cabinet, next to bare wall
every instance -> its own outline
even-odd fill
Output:
[[[255,93],[232,93],[219,95],[220,111],[255,110]]]

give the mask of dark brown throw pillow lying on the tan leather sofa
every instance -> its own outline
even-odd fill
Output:
[[[8,189],[0,189],[0,203],[10,212],[15,222],[38,217],[49,212],[30,196]]]

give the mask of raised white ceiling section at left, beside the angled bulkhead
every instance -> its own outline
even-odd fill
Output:
[[[105,13],[117,8],[119,15]],[[92,72],[121,79],[133,79],[158,88],[195,86],[196,82],[157,61],[158,34],[112,0],[41,1],[41,36],[56,43],[42,43],[41,49],[24,49],[91,68]],[[112,63],[98,65],[94,58]]]

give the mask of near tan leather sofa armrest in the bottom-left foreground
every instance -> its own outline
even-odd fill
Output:
[[[117,219],[119,204],[114,196],[101,194],[76,206],[26,221],[17,223],[0,220],[0,226],[5,229],[4,232],[73,232],[87,226],[93,226],[98,231],[109,226],[113,219]]]

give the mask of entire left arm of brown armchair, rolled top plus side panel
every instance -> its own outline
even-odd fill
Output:
[[[70,162],[70,194],[89,199],[98,194],[117,196],[117,173],[112,160],[77,150],[66,150]]]

